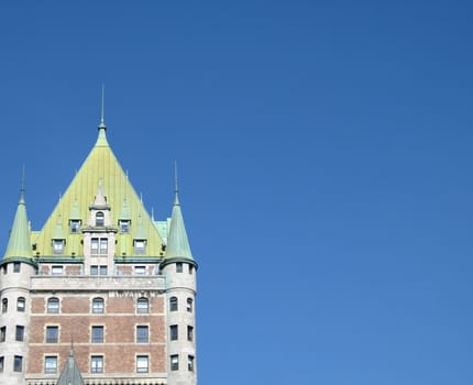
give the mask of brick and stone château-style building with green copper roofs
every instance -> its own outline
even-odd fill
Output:
[[[0,262],[2,385],[197,384],[197,264],[177,183],[170,219],[155,221],[106,130],[102,113],[38,231],[21,188]]]

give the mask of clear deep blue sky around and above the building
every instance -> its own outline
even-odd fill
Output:
[[[471,384],[466,1],[0,6],[0,243],[96,141],[155,216],[173,164],[206,385]],[[152,165],[151,168],[143,165]]]

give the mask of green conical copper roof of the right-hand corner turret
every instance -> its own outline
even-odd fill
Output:
[[[173,215],[170,217],[169,233],[167,237],[166,258],[183,257],[193,260],[189,241],[187,240],[186,227],[184,226],[183,212],[180,210],[177,190],[175,193]]]

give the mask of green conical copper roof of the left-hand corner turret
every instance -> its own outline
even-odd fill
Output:
[[[12,257],[31,258],[33,252],[31,250],[30,227],[26,216],[26,204],[24,202],[24,190],[22,188],[20,201],[18,202],[16,213],[13,220],[13,227],[10,232],[7,251],[3,260]]]

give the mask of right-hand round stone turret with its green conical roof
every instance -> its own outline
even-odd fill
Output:
[[[166,277],[167,384],[196,385],[196,271],[184,226],[177,184],[166,254],[161,263]]]

